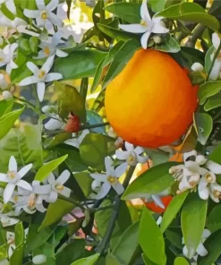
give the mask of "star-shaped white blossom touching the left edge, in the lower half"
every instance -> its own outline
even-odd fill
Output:
[[[0,173],[0,181],[7,183],[4,189],[4,203],[7,203],[11,199],[16,186],[32,191],[31,185],[21,179],[30,171],[31,167],[32,164],[29,164],[18,171],[15,158],[13,156],[10,158],[7,174]]]

